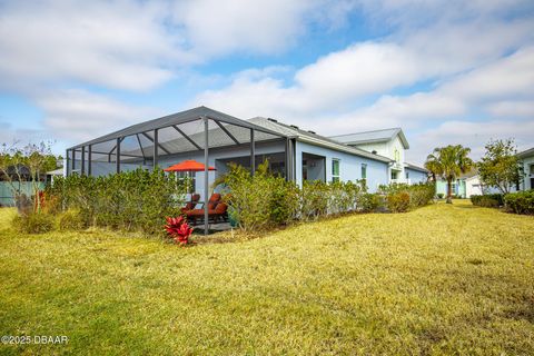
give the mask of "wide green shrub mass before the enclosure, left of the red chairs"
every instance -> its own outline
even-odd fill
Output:
[[[180,214],[186,186],[161,169],[138,168],[106,177],[58,177],[47,196],[63,210],[78,210],[89,225],[162,234],[165,217]]]

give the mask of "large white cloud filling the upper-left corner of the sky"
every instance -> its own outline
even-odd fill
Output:
[[[179,38],[158,23],[161,9],[140,2],[13,2],[0,6],[4,88],[77,80],[145,90],[186,62]]]

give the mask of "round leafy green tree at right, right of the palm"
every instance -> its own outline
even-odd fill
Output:
[[[514,140],[492,140],[485,148],[485,155],[476,165],[481,182],[497,188],[502,194],[508,194],[523,179],[523,167],[516,156]]]

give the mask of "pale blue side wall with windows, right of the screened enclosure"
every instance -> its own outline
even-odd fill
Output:
[[[339,159],[339,179],[342,181],[362,179],[362,164],[366,164],[369,191],[376,191],[379,185],[388,182],[388,164],[386,162],[299,141],[295,145],[295,179],[299,186],[303,185],[303,154],[325,157],[326,181],[332,181],[332,160]]]

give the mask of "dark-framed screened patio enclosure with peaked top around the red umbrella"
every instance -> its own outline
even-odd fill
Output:
[[[73,146],[67,150],[67,175],[102,176],[139,167],[167,168],[186,159],[205,164],[197,172],[195,191],[206,201],[211,182],[228,169],[229,162],[254,174],[269,160],[269,169],[294,179],[294,142],[290,137],[229,115],[198,107]],[[214,166],[215,171],[208,171]],[[208,210],[205,205],[205,233]]]

